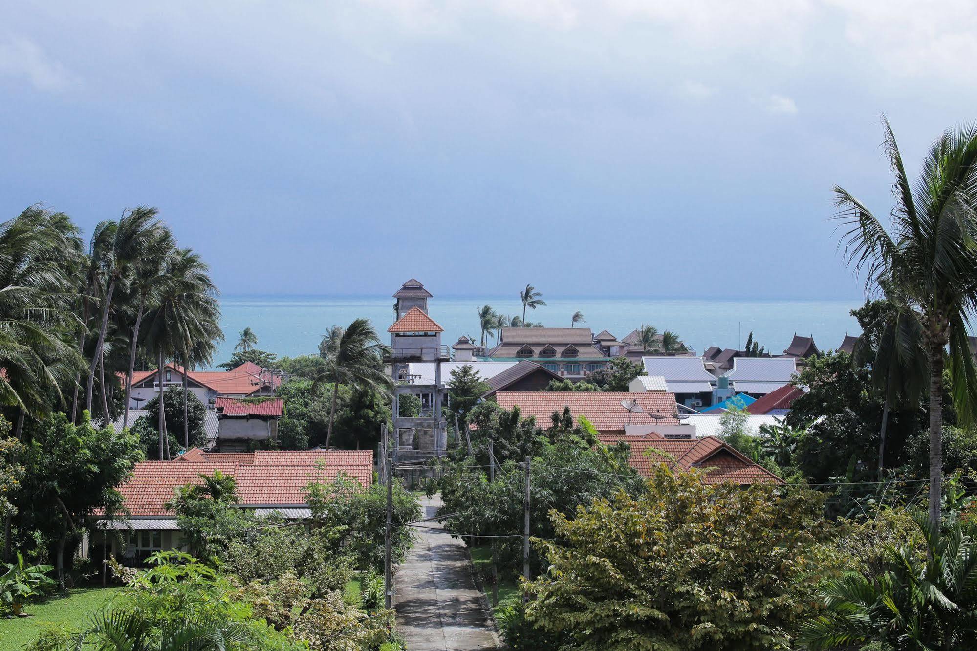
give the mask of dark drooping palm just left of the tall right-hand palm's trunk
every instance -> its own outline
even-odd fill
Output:
[[[923,326],[916,313],[895,297],[887,299],[885,305],[887,309],[862,332],[852,351],[856,368],[871,364],[872,388],[882,396],[878,481],[882,481],[884,474],[889,410],[894,406],[917,405],[928,374]]]

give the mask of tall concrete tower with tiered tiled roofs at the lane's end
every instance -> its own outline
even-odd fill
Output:
[[[447,423],[442,413],[447,389],[442,381],[441,363],[451,359],[450,350],[442,345],[445,331],[428,315],[431,292],[421,282],[410,279],[394,293],[397,320],[390,332],[391,377],[394,380],[394,450],[399,461],[424,460],[442,456],[447,444]],[[435,383],[421,384],[421,378],[410,374],[411,362],[434,362]],[[420,411],[401,414],[401,398],[417,396]]]

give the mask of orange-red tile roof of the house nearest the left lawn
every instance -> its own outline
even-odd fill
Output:
[[[192,460],[200,457],[205,460]],[[320,459],[323,465],[319,465]],[[369,486],[373,479],[373,452],[201,453],[191,449],[178,460],[137,463],[132,478],[118,490],[131,515],[172,517],[172,511],[163,504],[173,498],[174,491],[186,484],[202,483],[199,475],[211,475],[214,470],[234,477],[242,504],[303,506],[308,484],[331,481],[339,473]]]

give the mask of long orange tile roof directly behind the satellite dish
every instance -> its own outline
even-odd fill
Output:
[[[498,406],[511,410],[516,405],[524,417],[535,416],[536,423],[547,426],[553,412],[569,407],[573,418],[584,416],[601,432],[623,431],[628,423],[628,411],[622,400],[636,400],[644,413],[631,413],[631,424],[678,425],[675,416],[675,394],[663,391],[625,393],[604,391],[499,391],[495,394]],[[663,418],[653,418],[657,413]]]

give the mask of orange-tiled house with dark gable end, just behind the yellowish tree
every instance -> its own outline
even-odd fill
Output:
[[[599,438],[605,445],[616,445],[620,441],[627,443],[631,449],[628,464],[645,477],[652,476],[655,465],[665,463],[676,472],[692,468],[703,471],[705,484],[784,483],[774,473],[712,436],[692,440],[665,439],[653,432],[646,436],[601,435]]]

